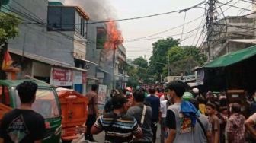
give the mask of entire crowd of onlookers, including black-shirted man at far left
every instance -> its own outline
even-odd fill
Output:
[[[24,81],[17,91],[21,107],[3,116],[0,142],[41,142],[45,121],[31,110],[37,84]],[[158,125],[161,143],[256,142],[256,92],[246,101],[246,108],[241,100],[230,103],[224,93],[202,95],[197,88],[188,90],[181,81],[162,90],[128,87],[113,90],[100,115],[97,91],[98,85],[93,84],[86,94],[87,142],[97,142],[93,135],[104,131],[107,143],[155,143]],[[245,111],[250,112],[247,115]]]

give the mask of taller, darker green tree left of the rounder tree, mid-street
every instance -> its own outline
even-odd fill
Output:
[[[167,52],[171,47],[178,46],[179,40],[173,38],[167,38],[164,40],[158,40],[153,43],[152,56],[149,58],[149,75],[155,77],[156,81],[160,81],[160,77],[163,73],[164,67],[167,66]],[[165,76],[165,75],[164,75]]]

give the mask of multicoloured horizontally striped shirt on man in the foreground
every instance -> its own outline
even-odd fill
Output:
[[[116,121],[110,127],[114,119]],[[113,112],[101,116],[94,126],[105,131],[105,143],[130,143],[133,142],[133,135],[142,132],[133,116],[126,114],[117,116]]]

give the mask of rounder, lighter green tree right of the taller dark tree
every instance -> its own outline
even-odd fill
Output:
[[[175,46],[168,50],[168,65],[171,68],[171,75],[185,75],[192,73],[192,68],[203,65],[207,60],[207,56],[200,53],[200,49],[195,46]],[[166,72],[168,69],[164,68]]]

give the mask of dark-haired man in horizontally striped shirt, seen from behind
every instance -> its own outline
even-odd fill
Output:
[[[126,97],[116,95],[112,98],[113,112],[105,113],[94,123],[92,134],[105,132],[105,142],[133,142],[133,135],[142,138],[142,129],[133,116],[126,114]]]

